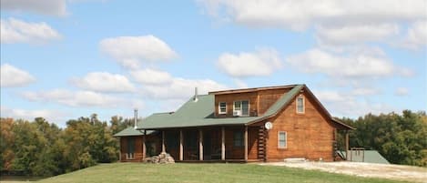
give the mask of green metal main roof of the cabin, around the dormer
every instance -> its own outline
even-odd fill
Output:
[[[198,96],[194,102],[190,98],[174,113],[156,113],[138,122],[138,129],[156,129],[168,127],[206,127],[219,125],[246,125],[250,122],[262,120],[277,114],[281,108],[286,107],[295,97],[303,85],[294,86],[287,94],[273,104],[263,116],[259,117],[214,117],[215,96]]]

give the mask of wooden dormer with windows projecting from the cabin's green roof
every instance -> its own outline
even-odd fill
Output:
[[[293,87],[255,87],[209,92],[209,95],[215,96],[215,117],[258,117]]]

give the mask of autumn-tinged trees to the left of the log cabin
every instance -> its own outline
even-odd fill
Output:
[[[1,172],[49,177],[117,161],[119,144],[113,135],[133,119],[111,117],[108,125],[93,114],[68,120],[65,128],[43,117],[0,121]]]

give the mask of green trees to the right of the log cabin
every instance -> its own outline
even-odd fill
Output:
[[[427,167],[427,117],[425,112],[404,110],[356,120],[343,118],[356,127],[351,131],[350,146],[375,149],[391,163]],[[342,138],[342,134],[339,138]],[[340,145],[343,147],[343,145]]]

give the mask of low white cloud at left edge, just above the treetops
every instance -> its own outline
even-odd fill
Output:
[[[32,121],[36,117],[44,117],[47,121],[51,123],[56,123],[57,125],[63,126],[66,122],[66,113],[57,110],[50,109],[39,109],[39,110],[26,110],[20,108],[9,108],[1,107],[1,117],[13,117],[21,118],[25,120]]]

